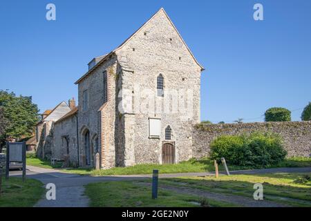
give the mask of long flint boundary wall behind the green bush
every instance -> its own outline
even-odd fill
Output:
[[[197,124],[194,127],[193,157],[209,155],[209,144],[220,135],[241,135],[255,131],[277,133],[283,137],[288,157],[308,157],[311,153],[311,121],[256,122],[243,124]]]

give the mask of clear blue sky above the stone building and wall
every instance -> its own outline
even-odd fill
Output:
[[[46,20],[55,3],[56,21]],[[262,3],[264,21],[254,21]],[[311,1],[1,1],[0,88],[41,111],[77,97],[75,80],[159,8],[200,64],[201,119],[262,121],[272,106],[311,101]],[[292,112],[299,120],[301,109]],[[256,118],[256,119],[252,119]]]

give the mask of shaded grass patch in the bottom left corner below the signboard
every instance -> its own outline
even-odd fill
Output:
[[[44,194],[42,183],[38,180],[27,179],[23,182],[21,178],[2,178],[0,195],[0,207],[30,207]]]

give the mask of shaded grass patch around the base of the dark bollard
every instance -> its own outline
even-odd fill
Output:
[[[150,182],[150,181],[149,181]],[[178,194],[172,191],[158,191],[158,199],[151,199],[151,187],[141,186],[137,182],[114,181],[99,182],[86,185],[86,195],[91,206],[234,206],[216,200],[207,200],[194,195]]]

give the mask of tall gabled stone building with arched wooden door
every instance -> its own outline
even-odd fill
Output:
[[[93,166],[97,152],[103,169],[191,158],[191,126],[200,121],[202,70],[163,8],[115,50],[95,57],[75,82],[79,165]],[[160,111],[141,95],[144,90],[154,95]],[[163,111],[173,96],[170,90],[187,97],[191,115]],[[147,111],[141,110],[144,102]],[[130,106],[140,106],[139,111]]]

